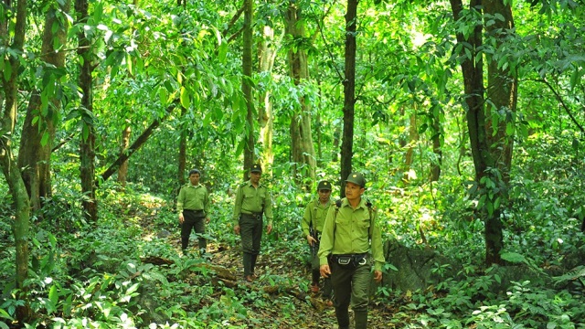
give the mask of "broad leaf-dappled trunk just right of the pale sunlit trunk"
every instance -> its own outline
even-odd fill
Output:
[[[302,10],[293,2],[286,12],[286,33],[297,44],[305,42]],[[294,85],[299,86],[309,79],[307,55],[303,46],[289,49],[289,69]],[[291,154],[293,157],[293,179],[297,186],[310,191],[315,179],[316,160],[314,156],[311,109],[302,96],[301,107],[291,118]]]

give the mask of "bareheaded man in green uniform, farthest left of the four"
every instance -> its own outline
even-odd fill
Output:
[[[201,172],[197,169],[191,169],[189,183],[181,187],[176,200],[176,210],[179,213],[179,223],[181,224],[181,249],[184,255],[193,228],[195,228],[199,241],[199,254],[205,256],[207,249],[207,240],[203,235],[205,234],[206,221],[209,222],[209,194],[207,188],[199,184],[200,179]]]

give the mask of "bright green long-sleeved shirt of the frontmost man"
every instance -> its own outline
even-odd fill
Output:
[[[327,256],[330,254],[346,255],[371,251],[375,261],[374,270],[382,271],[386,260],[384,260],[380,229],[375,225],[376,211],[371,211],[372,218],[370,219],[370,211],[363,198],[355,209],[349,205],[346,198],[343,198],[341,207],[335,210],[336,207],[329,207],[325,219],[318,253],[320,264],[327,264]],[[370,226],[373,226],[371,230]]]

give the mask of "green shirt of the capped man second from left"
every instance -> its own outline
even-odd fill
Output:
[[[239,223],[241,214],[264,213],[268,224],[272,225],[272,196],[266,186],[259,183],[258,187],[252,186],[250,180],[238,187],[236,192],[236,204],[234,206],[233,220],[235,225]]]

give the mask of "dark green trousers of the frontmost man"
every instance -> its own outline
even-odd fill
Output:
[[[367,328],[367,303],[371,281],[371,264],[368,261],[357,267],[330,263],[333,286],[335,317],[339,328],[349,328],[348,308],[351,302],[354,310],[356,329]]]

